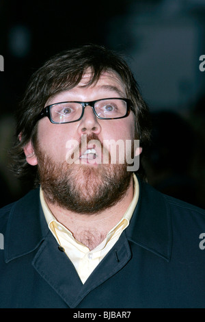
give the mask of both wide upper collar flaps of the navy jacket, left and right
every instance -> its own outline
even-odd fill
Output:
[[[169,261],[172,228],[164,197],[139,180],[139,200],[130,225],[128,240]],[[39,189],[32,190],[12,206],[5,234],[5,261],[36,249],[51,234],[40,205]]]

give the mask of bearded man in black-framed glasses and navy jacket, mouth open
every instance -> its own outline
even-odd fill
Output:
[[[14,170],[38,188],[1,210],[1,308],[205,307],[205,212],[146,184],[135,161],[148,120],[104,47],[60,53],[31,77]]]

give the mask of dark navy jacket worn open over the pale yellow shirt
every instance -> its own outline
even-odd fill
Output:
[[[205,308],[205,211],[148,184],[84,285],[46,225],[38,189],[0,210],[0,233],[0,308]]]

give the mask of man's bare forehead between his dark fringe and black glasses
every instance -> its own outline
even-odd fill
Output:
[[[55,100],[64,99],[67,95],[70,96],[70,99],[75,99],[75,95],[95,95],[93,99],[103,98],[101,96],[106,95],[107,97],[126,97],[126,90],[122,79],[114,71],[102,72],[98,80],[93,83],[92,77],[92,72],[87,70],[77,86],[62,90],[56,95],[53,95],[46,102],[46,105],[52,104]]]

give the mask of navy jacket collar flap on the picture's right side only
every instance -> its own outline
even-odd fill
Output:
[[[139,200],[131,224],[129,240],[169,262],[172,253],[172,223],[169,206],[162,193],[139,179]]]

